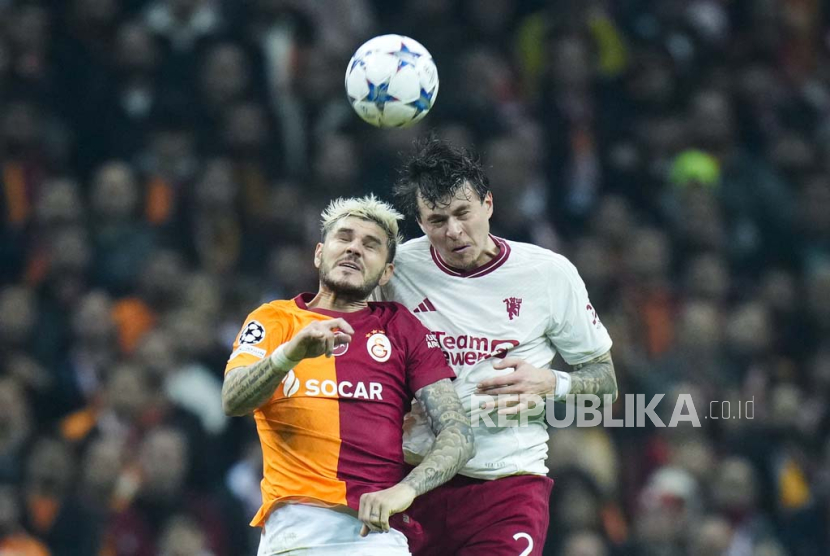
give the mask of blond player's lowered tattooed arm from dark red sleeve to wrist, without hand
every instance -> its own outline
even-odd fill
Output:
[[[435,444],[424,460],[402,481],[421,494],[449,481],[475,455],[470,418],[449,379],[424,386],[415,393],[424,406]]]

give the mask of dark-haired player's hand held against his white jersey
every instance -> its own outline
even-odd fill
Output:
[[[496,408],[502,415],[512,415],[528,409],[530,400],[522,399],[528,395],[553,395],[556,392],[556,374],[550,369],[539,369],[518,357],[505,357],[493,364],[497,370],[514,369],[510,374],[482,380],[476,385],[476,394],[498,396],[500,394],[518,394],[511,401],[500,401]]]

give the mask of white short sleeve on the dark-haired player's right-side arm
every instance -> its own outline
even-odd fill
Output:
[[[547,336],[569,365],[578,365],[611,349],[611,337],[588,298],[576,267],[556,256],[550,280]]]

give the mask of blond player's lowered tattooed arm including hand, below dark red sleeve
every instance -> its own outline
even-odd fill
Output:
[[[424,460],[397,485],[360,497],[358,518],[361,535],[389,531],[389,517],[402,512],[416,496],[449,481],[475,455],[470,418],[461,406],[450,379],[445,378],[415,392],[424,406],[435,444]]]

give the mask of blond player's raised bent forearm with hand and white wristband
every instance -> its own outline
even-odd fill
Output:
[[[225,415],[247,415],[274,395],[288,371],[306,358],[331,357],[334,346],[349,343],[354,330],[343,319],[315,321],[271,355],[247,367],[231,369],[222,384]]]

